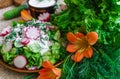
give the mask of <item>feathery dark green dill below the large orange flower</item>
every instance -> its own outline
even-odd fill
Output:
[[[71,55],[65,58],[62,66],[61,79],[119,79],[120,49],[113,55],[98,50],[91,59],[83,59],[80,63],[73,62]],[[119,57],[112,59],[118,55]]]

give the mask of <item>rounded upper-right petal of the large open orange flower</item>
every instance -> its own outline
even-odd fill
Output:
[[[98,40],[98,34],[96,32],[89,32],[86,37],[90,45],[94,45]]]

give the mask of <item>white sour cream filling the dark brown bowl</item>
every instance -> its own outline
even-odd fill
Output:
[[[50,7],[55,5],[56,1],[55,0],[29,0],[29,5],[37,8],[45,8],[45,7]]]

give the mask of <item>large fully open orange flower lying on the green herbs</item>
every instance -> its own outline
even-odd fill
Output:
[[[85,36],[82,33],[72,32],[67,33],[67,39],[70,42],[67,45],[66,50],[70,53],[75,53],[72,59],[75,62],[80,62],[84,57],[91,58],[93,55],[93,49],[91,45],[94,45],[98,40],[98,34],[96,32],[89,32]]]

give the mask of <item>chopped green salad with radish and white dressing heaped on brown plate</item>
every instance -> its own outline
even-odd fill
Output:
[[[1,32],[2,43],[0,50],[2,51],[0,54],[3,57],[3,61],[14,66],[14,58],[17,55],[23,55],[27,59],[27,69],[32,67],[38,69],[45,60],[49,60],[53,64],[59,62],[62,54],[60,48],[63,47],[60,44],[61,42],[59,42],[60,31],[58,29],[52,30],[49,28],[50,26],[52,25],[49,22],[41,22],[35,19],[23,23],[14,21],[11,31],[8,32],[8,28]],[[35,30],[34,35],[37,37],[34,35],[26,37],[30,29],[32,31]],[[40,35],[37,35],[39,32]],[[51,37],[51,34],[54,37]],[[35,37],[35,39],[31,37]]]

